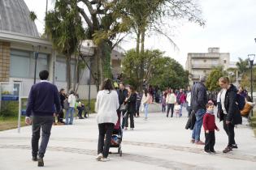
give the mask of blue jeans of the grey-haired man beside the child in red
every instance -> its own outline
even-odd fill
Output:
[[[195,139],[195,142],[200,141],[200,134],[202,128],[202,118],[205,115],[205,109],[199,109],[196,113],[196,123],[193,126],[192,138]]]

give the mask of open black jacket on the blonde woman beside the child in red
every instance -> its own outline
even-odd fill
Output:
[[[227,114],[226,120],[223,120],[223,110],[222,110],[222,112],[220,112],[220,115],[219,115],[220,121],[231,121],[233,125],[242,123],[241,113],[237,104],[237,89],[232,84],[231,84],[231,87],[229,87],[226,92],[224,107],[228,114]]]

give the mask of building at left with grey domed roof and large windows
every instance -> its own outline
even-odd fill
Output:
[[[81,53],[87,62],[94,55],[93,43],[88,40],[81,46]],[[38,57],[37,57],[38,53]],[[122,53],[113,50],[113,70],[119,73]],[[111,57],[111,58],[112,58]],[[37,58],[37,60],[36,60]],[[37,61],[37,67],[35,67]],[[117,61],[117,62],[115,62]],[[75,76],[75,60],[72,58],[72,78]],[[36,71],[35,71],[35,68]],[[21,96],[28,97],[36,73],[49,70],[50,82],[58,88],[67,87],[67,66],[63,54],[52,48],[49,40],[42,39],[35,23],[29,18],[28,6],[23,0],[0,1],[0,83],[21,83]],[[87,99],[89,93],[89,68],[80,69],[78,94]],[[66,89],[67,90],[67,89]],[[96,98],[97,88],[91,86],[91,98]]]

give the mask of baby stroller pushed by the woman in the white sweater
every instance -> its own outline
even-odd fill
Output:
[[[118,121],[115,124],[112,138],[111,138],[111,147],[118,148],[118,152],[116,154],[119,154],[120,156],[122,156],[123,152],[122,152],[121,143],[123,139],[123,130],[121,127],[120,117],[121,115],[120,113],[118,113]],[[113,153],[110,152],[110,154],[113,154]]]

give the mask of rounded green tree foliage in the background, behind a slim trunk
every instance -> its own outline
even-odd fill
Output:
[[[189,73],[183,69],[179,62],[171,57],[164,57],[159,50],[146,50],[144,53],[144,77],[150,85],[179,88],[189,84]],[[141,61],[137,57],[136,49],[129,50],[124,57],[123,73],[125,83],[135,87],[140,86],[141,77],[137,70]]]

